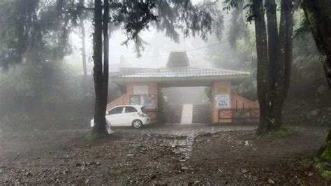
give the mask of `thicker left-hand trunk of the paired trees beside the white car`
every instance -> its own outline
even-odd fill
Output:
[[[96,102],[94,106],[94,127],[96,134],[105,133],[105,109],[103,106],[103,63],[102,63],[102,6],[101,0],[94,0],[94,90]]]

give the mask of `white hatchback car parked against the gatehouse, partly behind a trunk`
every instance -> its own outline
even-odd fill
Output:
[[[105,113],[108,127],[110,126],[132,126],[139,129],[151,120],[144,113],[145,106],[115,106]],[[110,126],[109,126],[110,125]],[[94,119],[91,120],[91,127],[94,126]],[[107,127],[107,128],[108,128]]]

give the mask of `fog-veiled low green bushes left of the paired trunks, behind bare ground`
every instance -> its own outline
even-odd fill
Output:
[[[92,94],[85,96],[81,85],[65,62],[13,66],[0,73],[0,127],[63,128],[75,117],[91,117]]]

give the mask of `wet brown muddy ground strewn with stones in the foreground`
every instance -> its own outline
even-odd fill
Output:
[[[297,162],[314,157],[327,130],[292,127],[256,138],[256,126],[149,125],[88,130],[0,132],[0,185],[328,185]]]

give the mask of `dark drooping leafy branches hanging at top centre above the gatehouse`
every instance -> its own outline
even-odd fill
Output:
[[[110,4],[111,20],[117,27],[123,25],[128,41],[134,41],[138,55],[144,41],[139,33],[155,27],[175,42],[179,42],[179,31],[185,37],[199,36],[207,40],[209,34],[221,38],[223,15],[216,2],[193,5],[191,1],[116,1]]]

